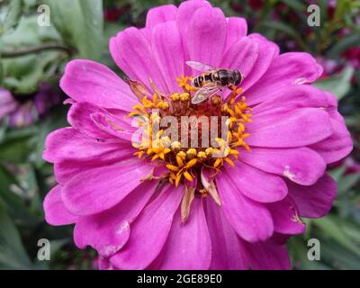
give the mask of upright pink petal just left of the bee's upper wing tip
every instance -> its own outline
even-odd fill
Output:
[[[184,49],[175,21],[158,24],[152,31],[151,48],[168,91],[180,92],[176,77],[184,75]]]

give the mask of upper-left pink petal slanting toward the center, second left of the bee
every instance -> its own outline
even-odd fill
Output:
[[[145,35],[134,27],[119,32],[110,40],[112,58],[132,80],[148,85],[148,77],[164,93],[170,93],[153,57],[151,45]]]

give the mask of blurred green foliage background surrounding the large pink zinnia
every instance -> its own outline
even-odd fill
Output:
[[[145,23],[149,8],[181,1],[160,0],[14,0],[0,2],[0,86],[27,97],[47,82],[58,86],[71,58],[90,58],[115,67],[107,49],[117,31]],[[307,220],[308,229],[289,242],[296,269],[360,269],[360,3],[312,1],[320,5],[320,27],[307,24],[311,1],[211,1],[228,16],[247,19],[250,32],[275,40],[285,51],[305,50],[331,71],[315,85],[336,94],[355,149],[347,161],[331,166],[338,197],[329,216]],[[37,24],[39,4],[49,4],[51,25]],[[49,48],[50,47],[50,48]],[[35,50],[36,53],[31,52]],[[357,62],[356,62],[357,61]],[[327,70],[327,69],[326,69]],[[51,130],[67,125],[67,106],[53,107],[45,118],[26,128],[0,126],[0,268],[92,269],[95,253],[78,250],[71,227],[53,228],[44,222],[42,201],[55,184],[52,167],[42,158]],[[37,259],[39,238],[51,240],[51,261]],[[319,238],[321,260],[307,258],[308,239]]]

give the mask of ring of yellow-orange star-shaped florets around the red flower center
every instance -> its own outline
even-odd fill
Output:
[[[193,86],[193,78],[181,76],[176,80],[184,92],[166,95],[157,88],[153,89],[155,94],[151,96],[151,94],[138,91],[136,96],[139,103],[133,106],[133,111],[129,113],[129,116],[139,116],[139,126],[144,128],[140,142],[133,144],[135,148],[139,149],[134,155],[139,158],[151,159],[151,161],[163,162],[168,170],[166,177],[168,177],[169,183],[178,186],[184,180],[193,181],[202,166],[212,168],[214,175],[220,172],[221,166],[225,163],[235,166],[234,161],[238,159],[239,155],[238,148],[250,151],[250,147],[245,141],[249,136],[245,124],[252,121],[252,109],[247,106],[245,97],[238,99],[238,95],[242,94],[242,89],[237,89],[235,86],[231,87],[232,92],[227,100],[223,100],[219,95],[214,95],[210,102],[202,103],[202,105],[190,104],[189,100],[193,97],[194,91],[198,90]],[[215,139],[218,147],[182,148],[181,141],[183,139],[172,141],[169,136],[165,136],[166,129],[155,131],[156,126],[154,125],[158,125],[167,115],[180,119],[185,115],[200,117],[214,114],[229,117],[226,121],[229,129],[226,138]],[[109,124],[114,130],[121,130],[116,122],[109,121]],[[186,137],[190,138],[190,135]],[[195,193],[202,191],[202,188],[193,187],[193,189]],[[203,189],[202,196],[207,194],[208,192]]]

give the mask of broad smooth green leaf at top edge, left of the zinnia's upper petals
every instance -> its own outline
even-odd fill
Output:
[[[103,2],[99,0],[46,0],[55,24],[78,57],[99,60],[103,43]]]

